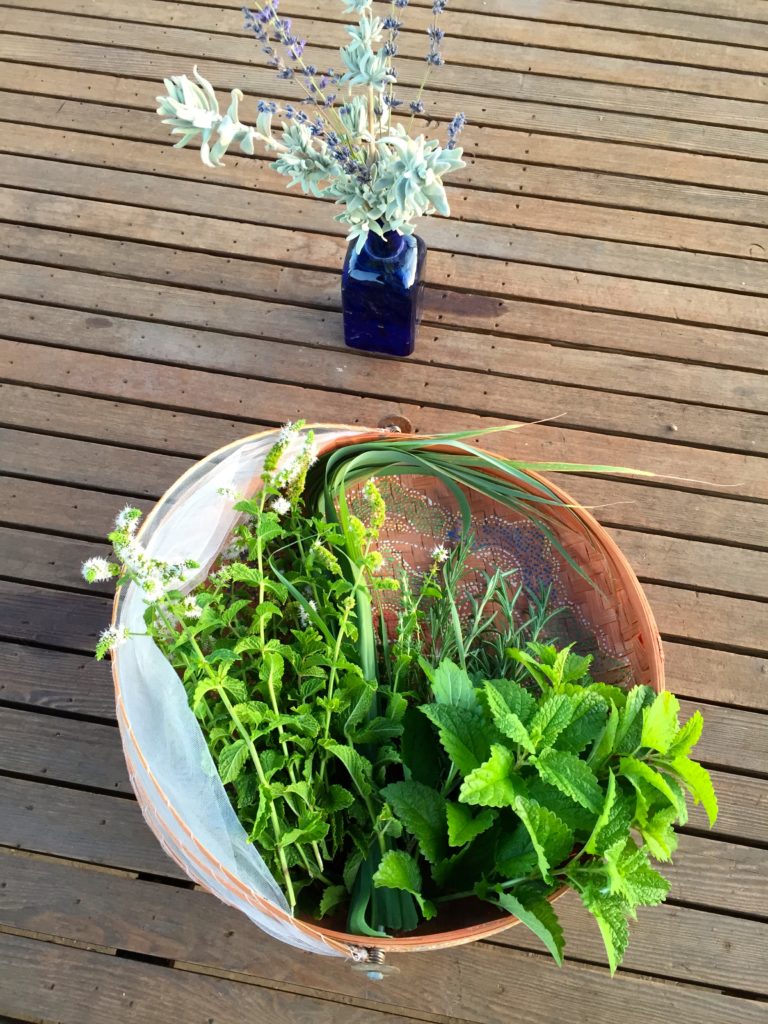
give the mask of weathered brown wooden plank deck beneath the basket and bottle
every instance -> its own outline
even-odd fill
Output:
[[[338,45],[336,0],[284,4]],[[404,362],[341,343],[328,207],[263,161],[202,174],[153,113],[195,60],[275,94],[238,6],[0,0],[0,1018],[765,1022],[768,0],[452,0],[430,113],[466,112],[472,161]],[[79,577],[115,510],[263,424],[389,414],[558,415],[496,443],[675,477],[566,481],[646,585],[722,807],[613,980],[566,897],[561,971],[517,928],[371,983],[194,888],[132,798]]]

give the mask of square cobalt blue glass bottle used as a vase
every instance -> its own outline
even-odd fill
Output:
[[[427,247],[416,234],[370,231],[362,249],[352,242],[344,260],[341,303],[350,348],[410,355],[424,297]]]

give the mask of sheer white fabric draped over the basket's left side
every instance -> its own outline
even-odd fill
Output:
[[[357,432],[318,429],[316,434],[324,442]],[[181,477],[147,518],[141,541],[152,555],[200,563],[188,587],[205,578],[238,519],[232,499],[219,489],[251,497],[274,439],[269,432],[214,453]],[[135,586],[123,588],[118,622],[141,632],[144,607]],[[248,842],[184,687],[160,649],[147,637],[133,637],[114,657],[118,719],[131,781],[144,818],[166,851],[189,878],[274,938],[312,952],[351,955],[319,933],[300,930],[290,916],[274,914],[274,909],[290,914],[286,898]]]

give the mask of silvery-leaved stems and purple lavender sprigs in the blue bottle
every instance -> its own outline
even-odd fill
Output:
[[[437,22],[446,0],[433,0],[427,68],[410,104],[408,127],[393,119],[402,101],[393,92],[397,74],[392,65],[408,0],[392,0],[384,18],[373,13],[372,0],[342,0],[344,10],[357,17],[346,27],[349,39],[340,50],[343,72],[306,62],[306,40],[296,34],[290,18],[280,15],[279,2],[246,8],[246,29],[261,44],[278,77],[296,84],[303,93],[301,105],[311,110],[262,99],[255,125],[244,124],[243,93],[232,89],[222,114],[213,87],[196,68],[194,81],[185,75],[166,79],[166,94],[158,96],[158,114],[172,134],[180,136],[176,145],[199,141],[203,163],[220,167],[230,146],[253,156],[260,143],[275,154],[272,167],[290,179],[289,187],[299,185],[305,195],[330,199],[342,208],[336,219],[346,225],[358,250],[370,231],[382,238],[411,234],[419,217],[449,216],[442,179],[464,166],[457,146],[464,115],[449,125],[445,146],[411,133],[414,117],[425,110],[422,95],[429,72],[443,62],[444,34]],[[338,101],[340,89],[346,93],[343,102]],[[280,128],[275,119],[282,122]]]

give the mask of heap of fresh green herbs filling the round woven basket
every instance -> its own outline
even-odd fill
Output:
[[[296,912],[346,910],[349,932],[375,938],[479,899],[560,963],[550,897],[565,886],[615,970],[628,919],[669,890],[650,858],[672,856],[684,791],[716,817],[710,777],[689,756],[701,716],[681,727],[672,694],[595,681],[591,657],[558,640],[550,594],[514,572],[486,573],[460,602],[473,543],[464,488],[557,544],[548,510],[558,499],[538,480],[531,489],[524,465],[461,435],[439,447],[349,444],[316,461],[311,431],[298,428],[281,432],[257,496],[232,496],[240,522],[191,592],[194,563],[151,557],[133,509],[110,537],[116,561],[89,560],[86,579],[123,573],[142,591],[146,633]],[[385,575],[378,547],[387,509],[377,479],[409,473],[449,485],[465,526],[417,579]],[[394,621],[383,604],[393,596]],[[128,639],[108,630],[97,656]]]

